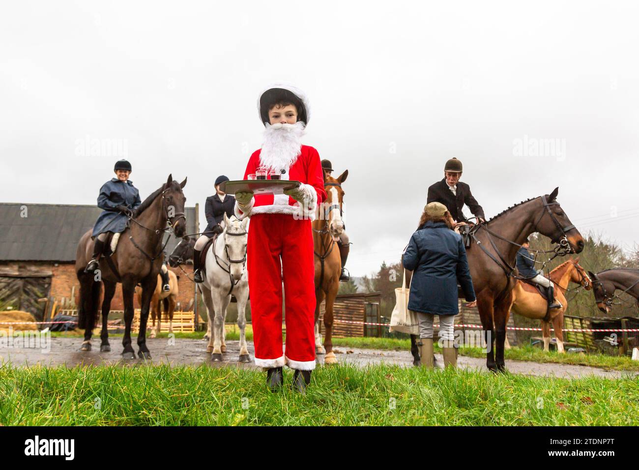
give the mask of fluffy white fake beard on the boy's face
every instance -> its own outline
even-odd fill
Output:
[[[275,171],[288,170],[300,155],[304,127],[303,121],[295,124],[266,123],[262,150],[259,152],[260,165]]]

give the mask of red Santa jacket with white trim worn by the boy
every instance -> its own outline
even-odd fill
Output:
[[[249,179],[249,175],[255,173],[256,169],[259,168],[260,152],[261,149],[256,150],[250,156],[243,179]],[[300,152],[295,163],[289,168],[286,168],[286,173],[282,175],[282,179],[299,181],[305,185],[305,189],[307,189],[312,196],[307,207],[300,205],[298,201],[286,194],[256,194],[246,213],[240,210],[237,202],[235,203],[235,215],[238,219],[250,217],[254,214],[296,214],[307,219],[315,219],[316,208],[326,199],[324,172],[321,168],[317,150],[311,146],[302,145]],[[268,176],[268,178],[270,178],[270,176]]]

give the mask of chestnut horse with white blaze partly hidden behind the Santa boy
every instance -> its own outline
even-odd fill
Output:
[[[333,352],[333,305],[339,290],[339,276],[342,272],[342,261],[337,249],[337,240],[344,230],[342,184],[348,177],[348,169],[337,178],[325,175],[324,188],[327,199],[316,210],[312,223],[313,250],[315,260],[315,352],[326,354],[325,364],[337,363]],[[326,299],[324,311],[325,338],[321,344],[319,334],[319,306]]]

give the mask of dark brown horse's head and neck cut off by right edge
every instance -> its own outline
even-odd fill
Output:
[[[636,306],[639,308],[639,269],[606,269],[597,274],[589,271],[588,274],[592,279],[595,303],[603,313],[610,313],[614,300],[621,299],[615,294],[615,290],[635,297]]]

